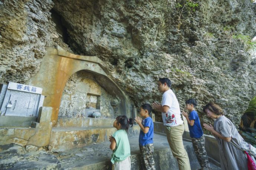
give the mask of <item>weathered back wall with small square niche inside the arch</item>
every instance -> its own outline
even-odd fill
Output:
[[[87,117],[86,107],[90,107],[100,109],[102,118],[114,118],[114,115],[118,114],[116,113],[118,107],[111,106],[114,101],[117,101],[117,105],[119,104],[118,98],[109,95],[97,83],[92,73],[79,71],[66,83],[62,93],[59,117],[85,118]]]

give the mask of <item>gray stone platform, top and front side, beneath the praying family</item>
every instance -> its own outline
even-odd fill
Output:
[[[130,136],[132,170],[140,169],[138,135]],[[111,154],[109,141],[64,152],[26,151],[23,147],[10,145],[0,154],[0,169],[84,169],[110,170]],[[11,147],[13,146],[13,147]],[[192,143],[184,141],[192,170],[200,168]],[[8,147],[8,146],[5,146]],[[178,164],[172,156],[166,136],[154,134],[154,159],[158,170],[177,170]],[[18,151],[17,151],[18,150]],[[219,167],[211,164],[213,170]]]

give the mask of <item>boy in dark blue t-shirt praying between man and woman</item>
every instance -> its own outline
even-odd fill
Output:
[[[200,120],[198,114],[195,110],[197,106],[196,99],[188,99],[186,101],[186,109],[190,111],[189,117],[188,114],[182,111],[182,115],[185,116],[188,122],[188,129],[190,133],[190,137],[192,138],[192,144],[194,147],[194,151],[196,152],[197,160],[201,166],[202,170],[209,170],[210,163],[207,157],[207,153],[205,150],[205,139],[202,127],[200,125]]]

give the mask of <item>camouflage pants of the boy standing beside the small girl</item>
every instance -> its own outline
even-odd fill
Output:
[[[153,153],[153,144],[140,146],[141,165],[143,170],[155,170],[155,161]]]

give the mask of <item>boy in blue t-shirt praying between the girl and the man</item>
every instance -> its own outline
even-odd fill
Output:
[[[154,123],[149,116],[151,111],[152,107],[150,106],[150,104],[144,104],[140,108],[140,115],[143,120],[139,116],[135,118],[135,122],[138,123],[141,128],[139,146],[143,170],[155,170],[155,162],[153,157]]]

